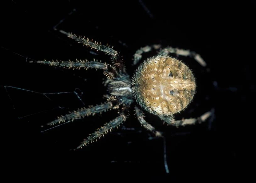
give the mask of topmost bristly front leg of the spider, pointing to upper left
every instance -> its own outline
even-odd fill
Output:
[[[116,66],[120,69],[123,69],[123,71],[125,71],[123,60],[119,56],[119,53],[113,49],[113,46],[110,47],[109,45],[106,45],[106,46],[101,45],[101,42],[97,42],[97,41],[93,42],[93,40],[90,41],[89,38],[77,36],[77,35],[72,34],[72,33],[67,33],[63,30],[60,30],[60,32],[67,35],[69,38],[74,39],[79,43],[82,43],[85,46],[89,46],[92,49],[95,49],[96,51],[103,51],[106,54],[111,55],[112,61],[114,62],[114,66]]]

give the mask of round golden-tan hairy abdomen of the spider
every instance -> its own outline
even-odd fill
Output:
[[[139,105],[155,115],[172,115],[188,106],[196,83],[191,70],[172,57],[151,57],[133,77],[133,93]]]

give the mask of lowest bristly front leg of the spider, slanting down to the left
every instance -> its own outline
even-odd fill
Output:
[[[77,149],[82,148],[84,145],[86,146],[89,143],[94,142],[94,140],[97,141],[97,138],[100,138],[101,136],[104,136],[104,133],[106,134],[108,131],[111,131],[112,128],[115,128],[123,123],[123,121],[126,120],[126,116],[124,114],[121,114],[117,118],[113,119],[109,123],[105,123],[104,126],[101,126],[101,128],[98,128],[96,132],[90,134],[89,137],[87,137],[81,145],[77,147]]]

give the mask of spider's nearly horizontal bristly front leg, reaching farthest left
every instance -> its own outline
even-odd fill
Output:
[[[111,65],[107,63],[101,63],[95,61],[88,61],[88,60],[76,60],[76,61],[30,61],[30,63],[39,63],[39,64],[45,64],[49,66],[54,66],[54,67],[63,67],[63,68],[73,68],[74,69],[88,69],[88,68],[95,68],[97,69],[103,69],[104,74],[106,75],[107,78],[113,78],[115,75],[117,75],[117,71],[115,67],[112,67]]]

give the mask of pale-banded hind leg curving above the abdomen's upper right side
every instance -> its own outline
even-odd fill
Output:
[[[168,47],[162,49],[158,53],[158,55],[168,56],[170,53],[174,53],[174,54],[177,54],[179,56],[184,56],[184,57],[188,57],[188,56],[193,57],[201,66],[206,67],[206,62],[204,61],[204,59],[194,51],[183,50],[183,49],[178,49],[178,48],[173,48],[171,46],[168,46]]]

